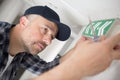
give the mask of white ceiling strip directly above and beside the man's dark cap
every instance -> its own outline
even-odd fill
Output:
[[[26,7],[31,5],[47,5],[53,8],[60,15],[61,21],[63,21],[66,24],[69,24],[70,26],[71,25],[81,26],[85,25],[88,22],[86,16],[79,13],[76,9],[74,9],[71,5],[69,5],[63,0],[44,0],[44,1],[24,0],[24,1],[26,1],[28,4],[26,5]]]

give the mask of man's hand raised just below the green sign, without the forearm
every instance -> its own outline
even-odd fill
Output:
[[[111,38],[101,36],[98,42],[81,37],[74,47],[73,57],[84,66],[84,76],[104,71],[114,59],[120,59],[120,34]],[[77,59],[78,58],[78,59]],[[76,65],[78,66],[78,65]],[[80,65],[81,66],[81,65]]]

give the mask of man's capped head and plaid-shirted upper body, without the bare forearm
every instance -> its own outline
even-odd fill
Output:
[[[27,9],[16,25],[0,22],[0,80],[14,79],[19,67],[41,74],[58,65],[59,57],[46,63],[36,54],[54,38],[65,41],[69,36],[70,28],[60,23],[57,13],[47,6]],[[12,66],[8,66],[9,58],[13,58]]]

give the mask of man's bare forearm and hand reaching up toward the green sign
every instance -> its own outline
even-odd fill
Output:
[[[33,80],[80,80],[95,75],[109,67],[114,59],[120,59],[120,34],[94,42],[80,39],[69,53],[70,57],[52,70]]]

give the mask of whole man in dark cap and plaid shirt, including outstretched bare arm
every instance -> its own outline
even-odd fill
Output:
[[[44,72],[33,80],[79,80],[105,70],[113,59],[120,57],[118,34],[110,39],[100,37],[98,42],[82,37],[63,57],[50,63],[40,59],[38,52],[54,38],[65,41],[70,36],[70,28],[47,6],[31,7],[18,24],[0,22],[0,26],[1,80],[14,80],[19,67],[38,75]],[[13,58],[12,66],[7,63],[8,55]]]

